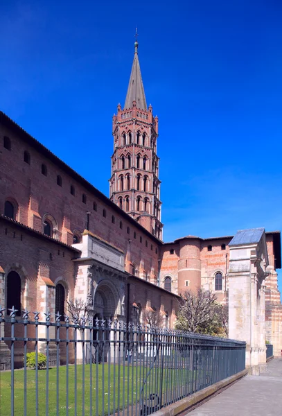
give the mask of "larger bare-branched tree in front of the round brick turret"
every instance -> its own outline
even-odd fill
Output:
[[[211,291],[198,288],[197,292],[184,291],[180,295],[177,329],[209,333],[215,315],[216,297]]]

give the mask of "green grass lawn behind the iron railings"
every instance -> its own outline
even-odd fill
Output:
[[[98,367],[98,379],[96,378],[96,369]],[[149,368],[136,367],[125,365],[120,367],[114,365],[104,365],[104,379],[103,379],[103,365],[92,365],[92,412],[96,416],[96,402],[98,401],[99,415],[112,415],[114,410],[136,404],[139,401],[139,393],[143,385],[143,377],[148,374]],[[161,386],[157,384],[157,379],[160,379],[159,372],[161,370],[154,369],[150,372],[147,380],[147,387],[144,389],[144,398],[148,398],[150,392],[161,391]],[[66,415],[66,393],[67,393],[67,367],[59,367],[59,415]],[[175,381],[177,372],[178,384]],[[163,373],[162,391],[164,399],[167,396],[168,400],[170,392],[179,391],[179,386],[183,389],[187,387],[192,381],[193,372],[189,370],[168,370]],[[15,416],[24,415],[24,370],[15,371]],[[27,415],[35,416],[35,370],[27,370]],[[0,375],[0,415],[10,416],[10,372],[2,372]],[[98,381],[97,381],[98,380]],[[104,382],[103,382],[104,380]],[[49,416],[55,416],[57,405],[57,370],[51,368],[49,370]],[[114,386],[115,384],[115,386]],[[39,370],[38,372],[38,403],[39,416],[46,415],[46,370]],[[118,406],[118,390],[120,395],[120,402]],[[180,388],[181,390],[181,388]],[[82,365],[77,366],[77,414],[82,415]],[[115,391],[115,394],[114,394]],[[90,415],[90,365],[85,365],[85,415]],[[103,413],[104,406],[104,413]],[[69,416],[75,415],[75,367],[69,366]],[[135,407],[135,406],[134,406]],[[122,413],[121,413],[122,414]]]

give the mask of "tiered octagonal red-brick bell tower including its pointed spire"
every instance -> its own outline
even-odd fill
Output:
[[[158,118],[147,107],[134,43],[134,59],[125,105],[118,104],[112,134],[112,176],[109,180],[111,200],[132,218],[162,239],[159,157],[157,157]]]

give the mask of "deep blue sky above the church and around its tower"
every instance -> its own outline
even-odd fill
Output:
[[[279,0],[2,2],[1,110],[108,196],[138,26],[164,240],[281,229],[281,17]]]

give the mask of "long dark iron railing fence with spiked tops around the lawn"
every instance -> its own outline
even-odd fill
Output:
[[[10,370],[1,374],[1,416],[146,416],[245,368],[245,343],[235,340],[3,312],[0,340],[10,349]],[[34,370],[28,352],[35,352]]]

